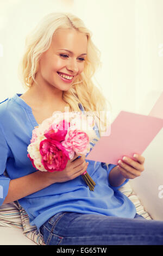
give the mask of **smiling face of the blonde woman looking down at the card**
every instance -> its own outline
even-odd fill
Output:
[[[84,70],[86,53],[86,35],[74,29],[59,29],[53,34],[51,46],[40,58],[37,73],[39,83],[68,90]],[[64,78],[60,74],[67,74],[69,77]]]

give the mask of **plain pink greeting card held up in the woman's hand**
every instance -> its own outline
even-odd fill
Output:
[[[121,111],[109,136],[101,136],[87,160],[118,164],[122,157],[142,154],[163,127],[163,119]],[[135,160],[135,159],[134,159]]]

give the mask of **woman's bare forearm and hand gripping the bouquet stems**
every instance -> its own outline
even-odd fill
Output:
[[[27,197],[53,183],[73,180],[79,175],[82,175],[87,168],[85,156],[83,155],[79,159],[77,159],[77,157],[78,155],[74,155],[73,159],[68,160],[66,168],[60,172],[54,171],[51,173],[37,170],[34,173],[24,175],[20,178],[11,179],[8,194],[3,204],[8,204],[23,197]],[[25,190],[24,187],[26,187]]]

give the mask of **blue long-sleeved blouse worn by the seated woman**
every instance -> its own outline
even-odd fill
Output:
[[[32,108],[20,95],[15,94],[0,104],[0,205],[8,194],[11,179],[37,171],[27,157],[27,147],[34,126],[38,124]],[[82,105],[79,106],[81,109]],[[96,134],[99,137],[97,129]],[[82,176],[78,176],[18,200],[27,211],[31,225],[36,225],[39,230],[43,223],[61,211],[134,218],[135,205],[118,190],[128,179],[121,186],[112,187],[108,177],[115,164],[109,164],[107,170],[103,162],[96,162],[94,167],[95,161],[87,161],[87,172],[96,182],[94,191],[90,191]],[[5,170],[9,178],[4,176]]]

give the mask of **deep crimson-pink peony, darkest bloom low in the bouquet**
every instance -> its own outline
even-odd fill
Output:
[[[64,170],[70,159],[61,143],[52,139],[41,141],[40,154],[42,156],[41,162],[48,172]]]

